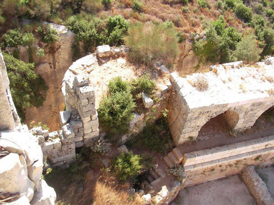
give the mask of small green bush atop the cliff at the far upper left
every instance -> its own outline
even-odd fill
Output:
[[[2,47],[16,47],[18,45],[27,46],[35,41],[34,34],[22,33],[19,29],[11,29],[7,33],[4,33],[2,39]]]

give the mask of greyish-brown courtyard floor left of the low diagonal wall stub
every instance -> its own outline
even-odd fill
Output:
[[[179,191],[170,205],[256,205],[238,175],[221,178]]]

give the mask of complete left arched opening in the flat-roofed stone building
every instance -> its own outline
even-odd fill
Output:
[[[229,135],[239,120],[238,113],[227,110],[224,113],[211,118],[204,124],[197,137],[197,140],[209,139],[210,136],[216,137],[218,135]]]

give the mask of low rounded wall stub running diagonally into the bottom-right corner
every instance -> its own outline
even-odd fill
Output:
[[[274,200],[271,197],[271,193],[269,193],[269,189],[267,189],[266,184],[262,181],[253,166],[242,170],[240,176],[245,184],[247,184],[247,188],[253,195],[258,205],[274,204]]]

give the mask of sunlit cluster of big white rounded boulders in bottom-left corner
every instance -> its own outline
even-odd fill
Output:
[[[41,180],[42,150],[31,133],[0,133],[0,195],[15,195],[8,204],[54,204],[54,189]],[[35,191],[36,190],[36,191]],[[15,197],[15,198],[16,198]]]

